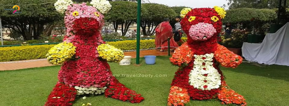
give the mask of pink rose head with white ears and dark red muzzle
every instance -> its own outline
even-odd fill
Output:
[[[92,0],[90,4],[85,2],[73,4],[71,0],[58,0],[54,6],[58,12],[65,13],[64,22],[67,34],[64,40],[67,42],[76,34],[91,35],[99,31],[104,25],[103,14],[111,8],[107,0]]]

